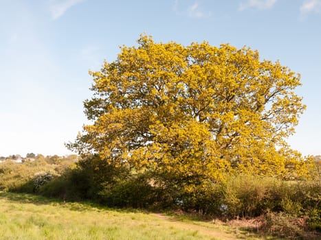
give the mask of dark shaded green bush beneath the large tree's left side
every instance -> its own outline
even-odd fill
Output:
[[[63,197],[71,201],[95,200],[109,204],[119,203],[120,201],[116,200],[118,198],[116,189],[121,188],[124,182],[120,184],[120,180],[126,178],[127,172],[123,167],[115,167],[99,156],[93,155],[80,160],[76,167],[67,169],[60,177],[43,184],[38,193],[49,197]],[[108,197],[102,194],[104,190],[107,194],[108,188],[112,188],[113,201],[107,201]],[[130,189],[129,187],[128,191],[131,191]],[[122,191],[125,191],[124,187]]]

